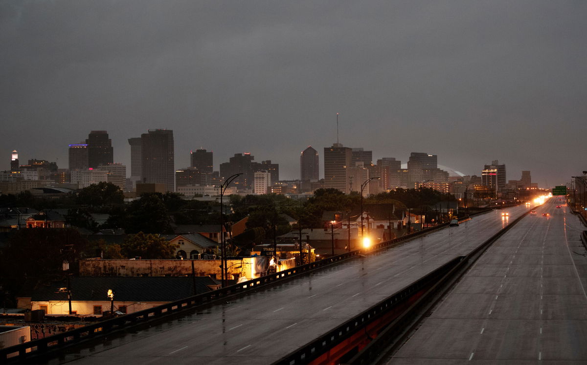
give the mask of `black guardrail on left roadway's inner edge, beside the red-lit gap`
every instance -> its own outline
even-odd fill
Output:
[[[336,344],[339,344],[343,340],[352,336],[352,334],[355,334],[357,331],[362,330],[369,323],[379,319],[384,313],[387,313],[389,310],[393,309],[393,307],[407,302],[407,300],[409,300],[415,293],[418,293],[427,286],[430,286],[431,283],[437,282],[439,278],[446,276],[446,274],[458,266],[458,264],[463,261],[463,259],[464,256],[454,258],[450,262],[440,266],[440,268],[437,268],[433,272],[423,276],[423,278],[416,280],[416,282],[411,283],[410,285],[399,290],[399,292],[384,299],[382,302],[377,303],[369,309],[364,310],[362,313],[359,313],[359,315],[352,317],[342,325],[336,327],[333,330],[330,330],[330,332],[323,334],[315,340],[312,340],[311,342],[300,347],[298,350],[287,354],[286,356],[276,361],[274,364],[294,365],[310,363],[312,360],[317,359],[319,356],[332,349],[332,347],[336,346]]]

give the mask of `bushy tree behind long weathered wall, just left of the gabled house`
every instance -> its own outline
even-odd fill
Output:
[[[139,232],[124,239],[120,252],[127,258],[173,259],[178,247],[158,235]]]

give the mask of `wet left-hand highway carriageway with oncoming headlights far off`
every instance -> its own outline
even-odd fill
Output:
[[[272,363],[455,256],[467,254],[527,208],[503,211],[510,217],[491,211],[459,227],[116,336],[50,363]]]

